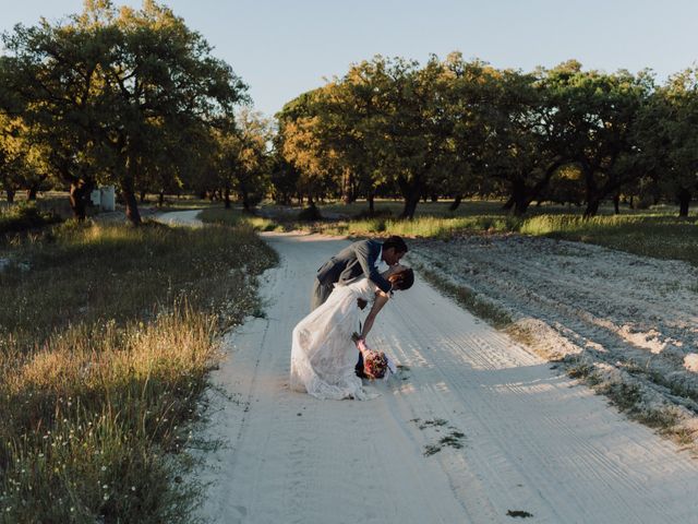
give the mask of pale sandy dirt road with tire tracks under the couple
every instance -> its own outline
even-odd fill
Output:
[[[347,241],[265,238],[281,255],[262,278],[267,317],[227,338],[215,371],[227,398],[206,433],[225,444],[200,473],[205,519],[698,522],[696,461],[420,282],[371,334],[404,367],[378,398],[289,391],[291,330],[316,267]]]

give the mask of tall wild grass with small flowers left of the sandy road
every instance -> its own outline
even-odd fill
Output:
[[[0,257],[0,522],[191,522],[218,334],[276,254],[244,224],[68,223]]]

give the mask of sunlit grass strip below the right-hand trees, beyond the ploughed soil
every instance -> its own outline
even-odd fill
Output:
[[[325,235],[350,237],[436,238],[448,240],[462,234],[509,234],[546,236],[594,243],[621,251],[659,259],[684,260],[698,266],[698,215],[678,218],[677,209],[660,205],[650,210],[603,206],[595,217],[585,219],[581,209],[562,205],[530,207],[524,217],[508,215],[498,201],[466,201],[455,212],[449,202],[420,203],[412,221],[399,221],[401,202],[378,201],[373,218],[365,217],[364,202],[321,205],[317,222],[297,219],[299,207],[263,206],[275,218],[261,219],[262,229],[302,229]],[[570,212],[571,211],[571,212]]]

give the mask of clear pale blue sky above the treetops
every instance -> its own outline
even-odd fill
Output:
[[[141,5],[140,0],[115,0]],[[695,0],[160,0],[214,46],[250,86],[255,109],[341,76],[375,55],[424,63],[461,51],[496,68],[530,71],[568,59],[585,69],[658,81],[698,61]],[[82,0],[0,0],[0,31],[56,21]]]

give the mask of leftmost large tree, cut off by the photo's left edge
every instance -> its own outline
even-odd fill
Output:
[[[17,25],[2,39],[9,52],[0,68],[3,110],[21,117],[31,140],[49,152],[49,169],[70,184],[73,213],[82,219],[95,182],[88,166],[98,123],[96,71],[106,40],[45,20]]]

